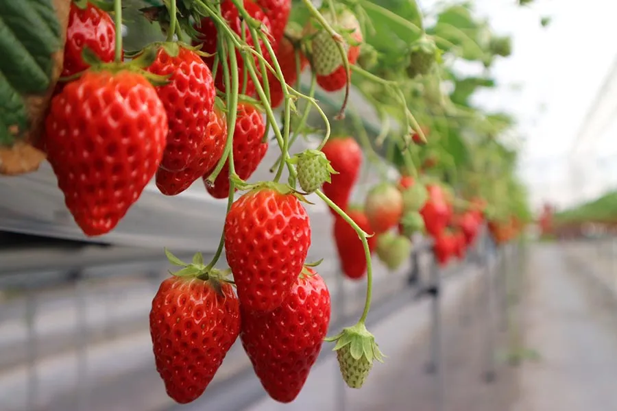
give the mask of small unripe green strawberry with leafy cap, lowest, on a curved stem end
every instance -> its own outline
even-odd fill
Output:
[[[337,342],[334,351],[337,351],[343,380],[350,388],[361,388],[373,367],[373,360],[383,362],[383,353],[375,337],[362,322],[343,328],[341,334],[326,338],[326,341]]]

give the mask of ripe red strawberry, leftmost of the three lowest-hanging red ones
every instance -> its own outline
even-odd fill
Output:
[[[150,335],[167,395],[178,403],[202,395],[239,333],[240,305],[230,284],[165,279],[152,300]]]

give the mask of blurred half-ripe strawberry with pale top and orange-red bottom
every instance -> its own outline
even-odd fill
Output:
[[[377,234],[383,233],[400,221],[403,197],[394,184],[377,184],[366,196],[365,210],[371,227]]]

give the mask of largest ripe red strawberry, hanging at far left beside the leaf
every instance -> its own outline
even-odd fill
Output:
[[[152,179],[167,114],[156,90],[130,71],[86,71],[51,101],[47,160],[88,236],[113,229]]]

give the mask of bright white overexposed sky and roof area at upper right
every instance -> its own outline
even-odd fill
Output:
[[[435,1],[420,4],[432,8]],[[476,0],[474,5],[498,34],[512,36],[512,55],[492,69],[498,87],[478,93],[475,101],[518,119],[525,139],[520,175],[533,206],[546,200],[565,206],[614,187],[617,169],[597,160],[617,153],[617,139],[611,138],[617,122],[605,127],[594,149],[579,155],[582,182],[572,179],[570,153],[617,55],[617,1],[535,0],[521,7],[517,0]],[[542,17],[551,18],[546,28]]]

